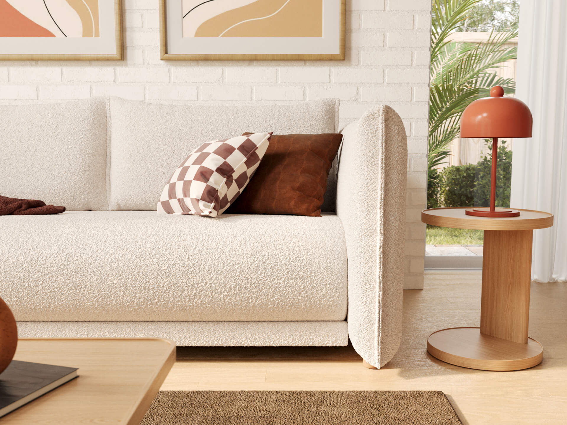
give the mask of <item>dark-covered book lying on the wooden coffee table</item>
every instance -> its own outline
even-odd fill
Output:
[[[0,373],[0,417],[77,376],[73,367],[12,360]]]

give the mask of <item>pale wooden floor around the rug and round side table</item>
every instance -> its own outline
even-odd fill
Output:
[[[426,337],[479,326],[480,271],[428,271],[404,291],[403,341],[380,370],[352,347],[180,347],[163,390],[441,390],[464,424],[567,424],[567,284],[532,283],[530,337],[543,362],[517,372],[460,368],[431,357]]]

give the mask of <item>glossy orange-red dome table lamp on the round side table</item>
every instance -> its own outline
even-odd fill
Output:
[[[504,96],[501,86],[490,90],[490,97],[473,101],[461,118],[460,137],[492,138],[492,176],[490,178],[490,207],[465,210],[467,215],[481,217],[515,217],[520,211],[496,208],[496,163],[498,138],[531,137],[530,108],[521,100]]]

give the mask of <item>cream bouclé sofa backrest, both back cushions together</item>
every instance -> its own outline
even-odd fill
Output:
[[[338,100],[166,105],[118,97],[0,105],[0,195],[70,211],[156,210],[163,186],[204,142],[244,131],[337,133]],[[336,161],[321,210],[335,211]]]

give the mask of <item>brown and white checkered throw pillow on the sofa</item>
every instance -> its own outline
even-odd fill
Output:
[[[222,214],[246,188],[271,136],[256,133],[199,146],[163,188],[158,214]]]

